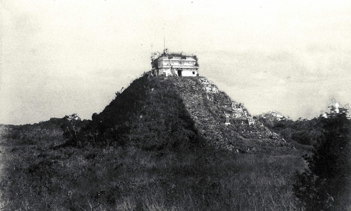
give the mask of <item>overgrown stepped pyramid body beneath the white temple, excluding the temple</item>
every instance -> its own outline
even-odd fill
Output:
[[[172,149],[210,145],[237,153],[286,154],[292,147],[204,77],[150,77],[117,92],[79,134],[84,143]]]

